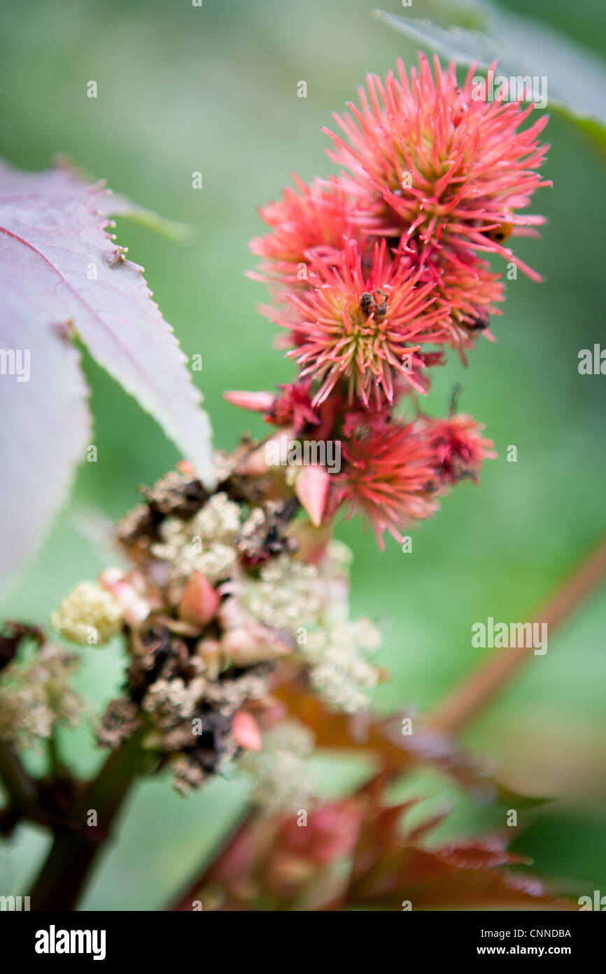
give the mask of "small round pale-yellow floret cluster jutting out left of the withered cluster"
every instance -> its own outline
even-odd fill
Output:
[[[96,581],[81,581],[66,595],[51,624],[71,643],[103,646],[122,629],[122,606]]]

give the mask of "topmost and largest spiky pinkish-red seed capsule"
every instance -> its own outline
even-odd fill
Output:
[[[359,89],[360,107],[350,103],[350,114],[335,116],[348,141],[325,130],[335,146],[329,155],[349,170],[368,206],[374,199],[369,233],[404,234],[463,255],[500,253],[537,277],[503,241],[517,228],[544,222],[517,210],[549,185],[536,171],[547,149],[538,136],[548,120],[520,129],[534,106],[506,101],[504,94],[483,100],[473,84],[476,70],[473,64],[459,88],[453,63],[443,71],[434,56],[434,78],[421,55],[410,80],[402,60],[384,83],[369,75],[367,90]]]

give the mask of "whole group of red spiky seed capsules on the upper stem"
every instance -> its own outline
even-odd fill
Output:
[[[336,116],[341,134],[325,130],[343,171],[296,178],[261,210],[269,232],[251,244],[262,258],[251,277],[272,295],[261,310],[284,329],[298,375],[278,394],[227,397],[300,440],[339,442],[339,471],[302,476],[297,495],[318,523],[341,504],[365,514],[381,546],[494,456],[473,419],[432,419],[414,400],[446,349],[466,360],[479,335],[492,338],[503,284],[482,255],[538,279],[505,242],[544,222],[521,210],[548,185],[547,118],[523,128],[533,106],[505,91],[482,99],[476,69],[462,86],[437,57],[433,72],[420,56],[410,74],[399,61],[384,81],[370,75]]]

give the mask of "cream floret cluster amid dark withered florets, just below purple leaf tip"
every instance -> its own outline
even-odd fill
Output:
[[[186,581],[198,571],[208,581],[222,581],[236,557],[240,508],[227,494],[215,494],[189,521],[167,517],[160,524],[161,542],[152,554],[170,562],[173,581]]]

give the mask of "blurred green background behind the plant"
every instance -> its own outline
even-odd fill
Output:
[[[190,246],[125,221],[117,234],[145,266],[185,352],[203,356],[195,378],[221,447],[232,447],[242,428],[261,429],[222,392],[291,377],[272,349],[273,325],[255,312],[265,289],[244,277],[254,263],[247,242],[262,230],[256,207],[276,197],[293,170],[304,179],[332,171],[320,132],[331,111],[354,96],[367,71],[384,73],[396,56],[415,56],[372,17],[375,2],[0,3],[0,153],[25,169],[43,169],[65,153],[136,203],[196,229]],[[507,6],[588,47],[604,36],[601,0]],[[397,0],[384,7],[402,13]],[[420,0],[412,13],[422,16]],[[86,94],[90,80],[96,99]],[[297,96],[302,80],[306,98]],[[522,275],[508,282],[504,314],[493,322],[497,344],[481,342],[467,370],[452,357],[435,374],[430,400],[430,409],[446,413],[460,382],[460,407],[485,423],[499,459],[486,465],[481,487],[463,484],[413,534],[410,554],[396,543],[380,554],[357,522],[339,528],[356,554],[352,611],[384,629],[380,661],[393,678],[376,701],[385,710],[436,705],[489,652],[472,649],[472,622],[529,618],[604,531],[606,379],[580,376],[577,364],[580,349],[604,340],[606,160],[559,118],[548,138],[554,188],[538,193],[533,211],[549,223],[542,241],[516,244],[546,282]],[[91,529],[94,517],[133,506],[136,486],[176,460],[134,401],[89,359],[86,369],[98,463],[80,469],[69,506],[5,600],[4,617],[44,621],[73,584],[93,578],[113,558],[103,524]],[[516,464],[506,462],[509,444],[517,446]],[[550,635],[547,655],[535,656],[464,734],[508,785],[554,797],[517,848],[576,895],[600,883],[606,892],[605,631],[602,591]],[[83,652],[80,687],[97,707],[116,693],[120,666],[119,646]],[[61,739],[83,773],[98,763],[84,731]],[[325,794],[361,773],[353,761],[318,765]],[[407,788],[427,796],[426,808],[445,794],[458,799],[443,835],[503,824],[502,809],[495,818],[434,775]],[[219,781],[184,801],[165,778],[139,786],[84,908],[159,909],[225,833],[245,792],[241,781]],[[25,891],[48,842],[24,827],[3,844],[2,892]]]

